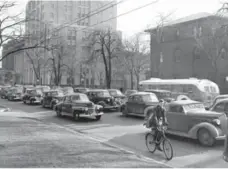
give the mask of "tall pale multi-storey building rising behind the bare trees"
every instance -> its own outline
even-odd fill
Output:
[[[88,52],[81,42],[95,28],[109,27],[116,30],[117,19],[111,19],[117,15],[117,6],[114,1],[29,1],[26,6],[26,18],[30,21],[25,25],[25,32],[31,36],[26,40],[26,45],[37,43],[39,37],[44,40],[44,44],[63,43],[69,47],[71,52],[75,53],[76,60],[86,57]],[[97,13],[97,14],[94,14]],[[109,21],[106,21],[109,20]],[[105,22],[103,22],[105,21]],[[43,55],[48,58],[50,52],[42,49],[35,49],[31,55]],[[67,59],[65,59],[67,60]],[[66,61],[67,62],[67,61]],[[68,63],[67,63],[68,64]],[[76,72],[80,71],[80,66]],[[43,68],[41,71],[42,82],[49,84],[51,80],[51,72]],[[48,67],[47,69],[50,69]],[[24,70],[26,74],[25,81],[27,83],[36,82],[33,66],[27,64]],[[80,75],[75,73],[75,84],[80,84]],[[67,84],[67,75],[62,76],[62,84]],[[88,80],[87,80],[88,81]]]

